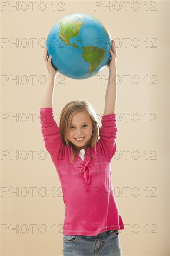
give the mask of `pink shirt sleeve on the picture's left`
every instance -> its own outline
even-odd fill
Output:
[[[45,148],[50,153],[52,161],[58,162],[64,157],[64,143],[61,140],[59,126],[54,120],[52,108],[40,108],[40,123]]]

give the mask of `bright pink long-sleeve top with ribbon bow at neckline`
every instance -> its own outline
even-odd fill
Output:
[[[112,229],[124,229],[111,177],[111,159],[116,152],[116,113],[102,116],[100,138],[95,148],[86,148],[94,156],[76,152],[61,140],[52,108],[40,108],[41,131],[45,148],[51,155],[63,190],[65,204],[64,235],[94,236]],[[82,153],[82,152],[81,152]]]

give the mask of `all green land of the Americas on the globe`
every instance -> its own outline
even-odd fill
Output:
[[[61,20],[59,21],[59,37],[66,45],[82,50],[82,57],[84,61],[90,63],[89,75],[91,75],[92,72],[100,65],[101,61],[104,60],[106,51],[105,49],[92,45],[80,47],[81,40],[78,38],[78,34],[82,26],[85,26],[85,23],[75,17],[70,18],[70,20]],[[107,33],[106,29],[105,31]],[[74,41],[71,43],[71,39],[73,38],[76,39],[76,42]]]

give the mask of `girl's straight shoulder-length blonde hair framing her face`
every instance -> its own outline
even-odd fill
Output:
[[[65,145],[70,145],[72,150],[71,155],[71,162],[73,164],[74,157],[76,154],[77,149],[74,147],[74,144],[68,140],[68,131],[71,125],[72,117],[77,112],[85,111],[87,114],[89,114],[90,119],[92,121],[92,126],[95,128],[94,131],[92,131],[91,139],[84,145],[84,149],[90,146],[92,148],[95,146],[95,152],[96,152],[96,143],[98,141],[98,136],[100,134],[100,123],[98,119],[95,118],[96,109],[85,100],[78,100],[78,101],[71,101],[65,105],[65,107],[61,111],[61,118],[59,122],[59,132],[61,135],[61,139]],[[86,155],[89,155],[94,159],[94,157],[88,153],[85,152]]]

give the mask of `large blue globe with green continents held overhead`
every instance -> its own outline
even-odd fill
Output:
[[[60,74],[87,79],[98,74],[110,60],[111,35],[97,18],[75,13],[52,27],[46,47]]]

